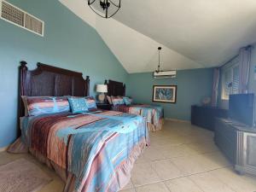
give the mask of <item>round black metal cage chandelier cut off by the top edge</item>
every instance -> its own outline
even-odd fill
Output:
[[[96,15],[108,19],[119,11],[121,0],[88,0],[88,5]]]

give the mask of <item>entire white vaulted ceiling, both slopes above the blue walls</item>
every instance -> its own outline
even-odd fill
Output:
[[[256,42],[255,0],[123,0],[113,19],[86,0],[60,0],[108,44],[128,73],[214,67]]]

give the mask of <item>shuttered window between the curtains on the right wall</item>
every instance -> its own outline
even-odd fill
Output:
[[[229,100],[230,94],[239,93],[239,64],[233,62],[233,65],[223,69],[222,73],[222,99]]]

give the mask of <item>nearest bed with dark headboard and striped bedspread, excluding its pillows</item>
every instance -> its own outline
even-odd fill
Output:
[[[38,63],[20,66],[20,135],[11,153],[30,152],[65,181],[65,192],[115,192],[149,143],[145,120],[115,111],[41,113],[25,116],[21,96],[88,96],[90,79]],[[61,97],[61,103],[64,100]]]

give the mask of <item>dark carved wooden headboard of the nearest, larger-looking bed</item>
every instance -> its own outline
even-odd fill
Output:
[[[26,61],[20,62],[19,113],[24,116],[21,96],[89,96],[89,76],[83,73],[53,67],[38,62],[35,70],[29,71]]]

